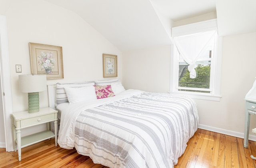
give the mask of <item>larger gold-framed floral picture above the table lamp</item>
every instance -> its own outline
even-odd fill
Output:
[[[62,79],[62,47],[29,43],[32,74],[44,74],[46,79]]]

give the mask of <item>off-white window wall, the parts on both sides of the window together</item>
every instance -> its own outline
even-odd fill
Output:
[[[201,126],[244,133],[246,93],[256,77],[256,33],[226,36],[223,41],[220,102],[196,100]],[[166,92],[170,79],[170,47],[123,53],[126,88]],[[256,116],[251,117],[256,128]],[[251,133],[250,133],[251,134]],[[235,135],[235,134],[234,134]]]

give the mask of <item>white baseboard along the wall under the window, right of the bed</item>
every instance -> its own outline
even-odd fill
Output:
[[[198,128],[244,139],[244,133],[198,124]],[[256,135],[249,134],[249,140],[256,141]]]

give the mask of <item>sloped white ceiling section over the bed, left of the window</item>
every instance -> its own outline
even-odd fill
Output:
[[[76,12],[119,50],[170,44],[149,0],[46,0]]]

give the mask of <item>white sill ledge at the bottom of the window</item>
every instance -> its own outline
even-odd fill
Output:
[[[197,94],[197,93],[190,93],[190,92],[168,92],[168,93],[174,94],[174,95],[188,96],[194,99],[210,100],[210,101],[216,101],[216,102],[220,102],[220,98],[221,98],[221,96],[216,96],[216,95]]]

